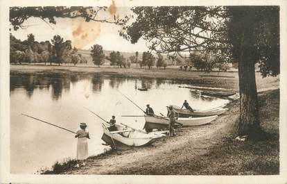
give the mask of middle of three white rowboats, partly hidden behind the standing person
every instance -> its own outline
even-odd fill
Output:
[[[182,126],[199,126],[203,124],[208,124],[218,117],[217,115],[208,117],[188,117],[188,118],[178,118],[175,124],[181,124]],[[145,128],[146,131],[153,130],[153,128],[164,129],[168,128],[169,119],[164,116],[146,116]]]

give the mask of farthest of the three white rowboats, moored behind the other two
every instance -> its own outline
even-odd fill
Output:
[[[201,116],[213,116],[213,115],[221,115],[223,114],[228,108],[214,108],[211,110],[194,110],[193,112],[191,110],[187,109],[181,109],[179,106],[173,106],[175,112],[179,114],[179,117],[201,117]]]

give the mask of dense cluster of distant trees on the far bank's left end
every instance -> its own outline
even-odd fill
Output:
[[[10,34],[10,63],[22,62],[49,62],[58,65],[62,63],[87,63],[87,60],[77,53],[78,49],[71,47],[71,41],[66,40],[60,35],[55,35],[51,42],[35,41],[35,36],[29,34],[24,41],[18,40]]]

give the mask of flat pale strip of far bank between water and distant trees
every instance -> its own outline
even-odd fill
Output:
[[[114,68],[94,66],[49,66],[49,65],[10,65],[10,74],[82,74],[101,76],[114,76],[121,78],[147,78],[157,80],[177,80],[191,85],[205,87],[221,87],[232,91],[238,91],[238,72],[206,72],[180,71],[177,68],[167,69],[139,69],[139,68]],[[216,77],[217,76],[217,77]],[[262,78],[256,72],[257,89],[279,88],[279,76]]]

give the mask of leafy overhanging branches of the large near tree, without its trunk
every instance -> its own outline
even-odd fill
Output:
[[[236,62],[232,56],[236,56],[233,48],[238,39],[232,38],[229,31],[238,28],[230,23],[236,10],[240,9],[238,13],[242,14],[244,8],[247,7],[135,7],[132,11],[137,18],[132,24],[125,24],[120,35],[132,43],[143,37],[151,50],[167,53],[171,58],[185,52],[200,52],[220,58],[225,63]],[[279,74],[279,8],[254,6],[251,12],[256,15],[252,25],[256,27],[252,34],[256,40],[254,61],[259,62],[263,76]]]

